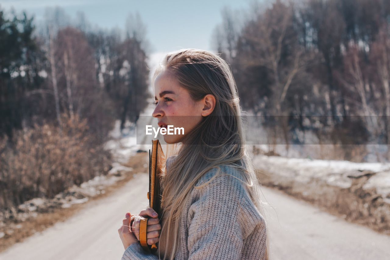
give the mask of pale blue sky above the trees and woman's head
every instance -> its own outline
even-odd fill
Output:
[[[262,0],[260,0],[262,1]],[[46,7],[62,7],[72,18],[84,12],[92,26],[125,29],[129,14],[140,14],[149,41],[149,66],[153,71],[167,52],[199,48],[216,52],[213,30],[222,23],[221,11],[227,6],[235,14],[248,11],[253,0],[141,1],[141,0],[0,0],[0,8],[17,13],[26,11],[39,23]]]

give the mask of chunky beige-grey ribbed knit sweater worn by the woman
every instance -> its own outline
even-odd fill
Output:
[[[266,222],[240,181],[243,177],[239,171],[231,166],[220,169],[228,175],[218,175],[204,187],[192,189],[180,219],[175,259],[263,259]],[[216,173],[217,169],[207,171],[195,186]],[[134,259],[159,258],[146,253],[138,242],[126,248],[122,256],[122,260]]]

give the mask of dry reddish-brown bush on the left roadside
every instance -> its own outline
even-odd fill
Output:
[[[0,208],[53,198],[110,169],[111,154],[89,134],[87,121],[62,115],[62,130],[44,124],[0,140]]]

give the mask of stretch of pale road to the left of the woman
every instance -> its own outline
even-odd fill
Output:
[[[91,201],[87,210],[65,223],[35,233],[0,254],[1,260],[121,259],[124,248],[118,228],[127,211],[137,214],[147,207],[149,176],[138,173],[111,196]]]

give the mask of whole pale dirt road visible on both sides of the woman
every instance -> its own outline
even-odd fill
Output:
[[[65,223],[36,233],[4,253],[4,260],[115,260],[124,248],[117,229],[126,211],[147,206],[148,175],[137,173],[122,189]],[[303,201],[263,187],[268,208],[271,259],[390,259],[390,237],[321,212]]]

